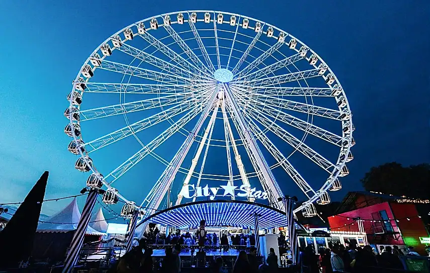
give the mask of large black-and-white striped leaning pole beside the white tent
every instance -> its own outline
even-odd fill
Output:
[[[74,232],[73,238],[70,242],[69,251],[67,252],[64,260],[63,273],[72,272],[73,267],[76,265],[80,250],[82,249],[83,237],[85,232],[87,232],[94,205],[96,205],[97,195],[98,191],[94,189],[92,189],[88,194],[87,201],[85,201],[85,205],[83,206],[82,215],[80,216],[76,231]]]

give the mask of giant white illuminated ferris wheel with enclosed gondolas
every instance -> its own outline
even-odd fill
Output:
[[[238,198],[234,191],[244,185],[248,201],[267,199],[284,209],[277,202],[282,188],[296,187],[306,202],[295,212],[311,217],[313,204],[328,204],[329,192],[341,189],[339,177],[349,173],[355,128],[344,90],[317,53],[269,23],[216,11],[154,16],[98,46],[72,85],[64,112],[68,150],[79,156],[76,169],[91,172],[88,187],[107,187],[107,204],[137,206],[117,185],[132,168],[151,170],[138,164],[147,157],[164,164],[142,196],[148,212],[178,176],[180,188],[196,193],[179,191],[176,205],[209,197],[197,188],[211,181],[225,185],[221,197]],[[99,166],[114,145],[111,156],[126,157]],[[211,173],[210,164],[224,173]],[[307,164],[323,173],[312,183]]]

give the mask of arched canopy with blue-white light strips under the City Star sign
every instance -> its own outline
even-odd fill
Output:
[[[200,220],[206,220],[206,226],[211,227],[248,228],[254,225],[254,213],[260,215],[260,229],[287,226],[287,217],[282,211],[268,205],[239,200],[186,203],[158,211],[143,219],[139,225],[149,221],[178,228],[196,228]]]

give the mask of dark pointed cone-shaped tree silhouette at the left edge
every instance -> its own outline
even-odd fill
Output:
[[[30,256],[45,197],[48,174],[47,171],[42,174],[14,216],[0,232],[0,268],[17,267],[21,260]]]

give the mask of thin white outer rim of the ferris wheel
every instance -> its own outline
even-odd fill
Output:
[[[172,13],[161,14],[161,15],[154,16],[154,17],[149,17],[149,18],[146,18],[146,19],[144,19],[144,20],[137,21],[137,22],[135,22],[135,23],[133,23],[133,24],[131,24],[131,25],[129,25],[129,26],[127,26],[127,27],[125,27],[125,28],[121,29],[120,31],[118,31],[117,33],[115,33],[114,35],[112,35],[111,37],[109,37],[108,39],[106,39],[102,44],[100,44],[100,46],[99,46],[99,47],[97,47],[97,48],[93,51],[93,53],[90,55],[90,57],[88,57],[88,59],[83,63],[82,67],[79,69],[79,72],[78,72],[78,74],[77,74],[77,76],[76,76],[76,78],[75,78],[75,82],[74,82],[73,87],[72,87],[71,94],[73,95],[73,93],[74,93],[74,92],[77,92],[77,90],[76,90],[76,84],[77,84],[77,81],[78,81],[78,79],[79,79],[79,77],[80,77],[80,75],[81,75],[81,73],[82,73],[82,70],[83,70],[84,66],[90,62],[90,58],[91,58],[91,56],[93,56],[93,54],[94,54],[94,53],[97,53],[97,52],[100,50],[101,46],[102,46],[103,44],[105,44],[105,43],[109,42],[109,41],[112,39],[112,37],[113,37],[113,36],[115,36],[115,35],[119,35],[119,34],[120,34],[121,32],[123,32],[125,29],[127,29],[127,28],[131,28],[131,27],[135,26],[137,23],[140,23],[140,22],[147,22],[147,21],[151,20],[152,18],[156,18],[156,17],[163,17],[163,16],[165,16],[165,15],[176,15],[176,14],[179,14],[179,13],[190,14],[190,13],[193,13],[193,12],[196,12],[196,13],[209,12],[209,13],[212,13],[212,14],[215,14],[215,13],[222,13],[222,14],[224,14],[224,15],[234,15],[234,16],[239,16],[240,18],[247,18],[247,19],[252,20],[252,21],[254,21],[254,22],[264,23],[266,26],[271,26],[271,27],[273,27],[274,29],[276,29],[276,30],[278,30],[278,31],[280,31],[280,32],[284,32],[283,30],[281,30],[281,29],[277,28],[276,26],[271,25],[271,24],[268,24],[268,23],[263,22],[263,21],[261,21],[261,20],[257,20],[257,19],[251,18],[251,17],[242,16],[242,15],[238,15],[238,14],[228,13],[228,12],[218,12],[218,11],[200,11],[200,10],[198,10],[198,11],[182,11],[182,12],[172,12]],[[298,43],[300,43],[301,45],[306,46],[306,44],[304,44],[303,42],[301,42],[301,41],[300,41],[299,39],[297,39],[296,37],[292,36],[290,33],[288,33],[288,32],[284,32],[284,33],[286,33],[288,37],[291,37],[291,38],[296,39],[296,40],[297,40],[297,42],[298,42]],[[330,68],[330,67],[329,67],[329,66],[328,66],[328,65],[323,61],[323,59],[322,59],[321,57],[319,57],[319,55],[318,55],[316,52],[314,52],[310,47],[308,47],[308,49],[309,49],[309,52],[311,52],[312,54],[315,54],[315,55],[317,56],[318,60],[319,60],[321,63],[323,63],[324,65],[326,65],[327,70],[328,70],[328,71],[329,71],[329,72],[334,76],[334,78],[335,78],[335,82],[336,82],[336,83],[338,83],[338,85],[339,85],[339,86],[340,86],[340,88],[341,88],[341,84],[340,84],[340,82],[338,81],[338,79],[337,79],[336,75],[332,72],[331,68]],[[115,50],[115,48],[113,48],[112,50]],[[297,51],[297,50],[296,50],[296,51]],[[181,54],[182,54],[182,53],[181,53]],[[234,81],[233,81],[232,83],[234,83]],[[84,93],[84,92],[82,92],[82,93],[81,93],[81,95],[83,95],[83,93]],[[349,107],[349,103],[348,103],[348,98],[347,98],[347,96],[345,96],[345,92],[344,92],[344,90],[343,90],[343,89],[342,89],[342,94],[344,95],[343,97],[345,98],[346,103],[347,103],[347,107],[346,107],[346,108],[348,109],[348,112],[349,112],[349,113],[351,113],[351,111],[350,111],[350,107]],[[70,101],[69,108],[71,109],[72,107],[73,107],[73,104],[72,104],[72,102]],[[78,109],[80,109],[80,105],[78,106]],[[125,113],[124,113],[124,115],[125,115]],[[312,116],[312,117],[313,117],[313,116]],[[70,114],[70,115],[69,115],[69,121],[70,121],[70,123],[73,123],[72,114]],[[350,126],[352,126],[352,115],[351,115],[351,114],[350,114],[350,118],[349,118],[349,120],[348,120],[348,121],[350,122]],[[342,121],[342,124],[343,124],[343,121]],[[306,133],[305,135],[307,135],[307,134],[308,134],[308,133]],[[133,134],[133,135],[134,135],[134,134]],[[135,136],[135,137],[137,138],[137,136]],[[347,137],[346,137],[345,133],[343,133],[343,132],[342,132],[342,138],[343,138],[343,139],[348,139],[348,141],[349,141],[348,149],[347,149],[347,153],[348,153],[348,152],[350,151],[350,149],[351,149],[352,133],[348,134],[348,135],[347,135]],[[80,135],[80,137],[79,137],[79,136],[76,136],[76,135],[74,134],[74,131],[73,131],[73,139],[74,139],[74,141],[77,141],[78,139],[80,139],[80,140],[81,140],[81,135]],[[84,157],[85,155],[88,155],[88,153],[86,153],[86,151],[85,151],[85,152],[80,152],[80,151],[79,151],[79,153],[80,153],[80,156],[81,156],[81,157]],[[339,158],[340,158],[340,157],[339,157]],[[342,167],[342,166],[345,166],[345,165],[346,165],[346,163],[347,163],[347,159],[346,159],[346,158],[345,158],[345,159],[343,159],[343,161],[340,161],[339,159],[338,159],[337,161],[338,161],[338,162],[336,163],[336,165],[340,164],[339,166],[341,166],[341,167]],[[93,165],[91,165],[91,171],[92,171],[93,173],[99,173],[99,172],[97,171],[97,169],[96,169]],[[338,170],[336,171],[336,173],[332,176],[333,178],[332,178],[332,180],[331,180],[331,181],[333,181],[334,179],[336,179],[336,178],[337,178],[337,176],[339,175],[339,173],[340,173],[340,169],[338,169]],[[328,182],[328,180],[327,180],[327,182]],[[319,192],[319,191],[321,191],[322,189],[324,189],[324,190],[327,190],[327,189],[328,189],[328,187],[330,186],[330,183],[328,183],[328,184],[327,184],[327,182],[323,185],[323,187],[322,187],[320,190],[318,190],[318,192]],[[105,184],[105,185],[106,185],[106,184]],[[107,186],[108,188],[110,188],[110,186],[109,186],[109,185],[106,185],[106,186]],[[124,197],[122,197],[121,195],[118,195],[118,196],[119,196],[123,201],[125,201],[125,202],[129,202],[128,200],[126,200],[126,199],[125,199]],[[306,202],[304,203],[304,205],[302,205],[302,206],[300,206],[298,209],[296,209],[296,210],[295,210],[295,212],[297,212],[299,209],[303,208],[303,206],[305,206],[306,204],[311,204],[311,203],[313,203],[316,199],[318,199],[318,197],[319,197],[319,195],[315,194],[312,198],[310,198],[308,201],[306,201]]]

